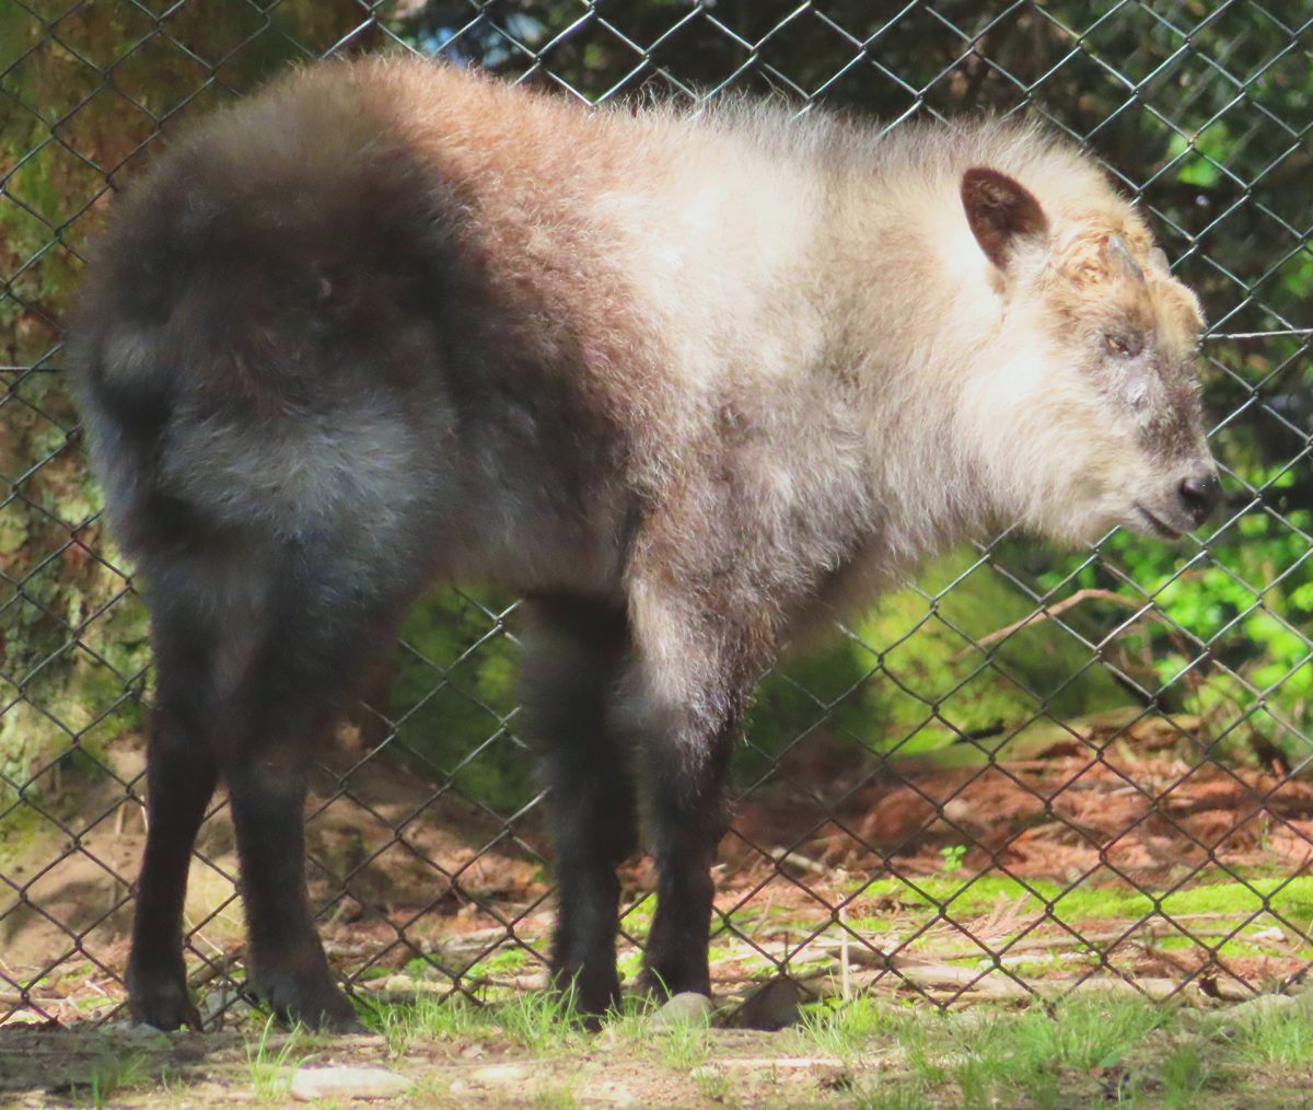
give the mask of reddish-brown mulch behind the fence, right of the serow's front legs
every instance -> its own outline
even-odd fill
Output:
[[[1113,732],[1023,761],[868,770],[869,782],[830,804],[832,820],[810,784],[754,800],[730,854],[747,862],[748,843],[786,845],[826,867],[915,875],[940,871],[943,849],[961,845],[968,874],[1069,881],[1112,868],[1108,880],[1144,887],[1205,864],[1287,876],[1313,860],[1313,783],[1201,762],[1174,730],[1178,742],[1165,745],[1157,719]]]

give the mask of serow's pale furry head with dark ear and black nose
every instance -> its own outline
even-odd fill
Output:
[[[962,176],[966,223],[1003,309],[1003,353],[969,384],[964,418],[1003,515],[1065,541],[1115,524],[1178,539],[1220,498],[1199,397],[1199,300],[1102,180],[1056,194],[1046,211],[997,169]]]

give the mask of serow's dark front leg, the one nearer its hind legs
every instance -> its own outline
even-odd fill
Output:
[[[551,981],[574,1008],[601,1014],[620,1001],[616,867],[637,847],[626,753],[608,725],[629,657],[622,612],[580,599],[528,606],[524,700],[551,789],[561,910]]]

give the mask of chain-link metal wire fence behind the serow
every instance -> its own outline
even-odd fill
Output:
[[[1296,16],[1295,13],[1305,13]],[[1243,0],[0,0],[0,1022],[122,1015],[151,670],[59,319],[113,187],[270,74],[412,49],[601,104],[727,91],[890,127],[1033,113],[1201,294],[1225,511],[1169,546],[1012,535],[930,567],[758,698],[717,877],[718,993],[1239,998],[1313,956],[1313,22]],[[1300,22],[1300,20],[1304,20]],[[311,887],[360,996],[536,989],[550,849],[515,600],[425,599],[326,750]],[[231,828],[188,964],[242,1010]],[[622,872],[621,968],[653,909]]]

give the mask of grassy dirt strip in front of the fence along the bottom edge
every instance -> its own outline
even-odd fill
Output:
[[[1291,1010],[1300,1000],[1285,1001]],[[1253,1008],[1254,1004],[1247,1004]],[[860,1036],[823,1029],[762,1032],[680,1030],[633,1018],[599,1034],[548,1036],[538,1044],[496,1029],[410,1038],[400,1048],[379,1035],[306,1036],[284,1032],[164,1035],[117,1023],[91,1029],[0,1029],[0,1107],[227,1105],[502,1107],[881,1107],[1184,1106],[1257,1110],[1313,1106],[1313,1040],[1306,1013],[1293,1013],[1287,1035],[1271,1022],[1259,1032],[1239,1017],[1246,1006],[1201,1015],[1175,1009],[1159,1019],[1142,1004],[1141,1036],[1127,1011],[1087,1010],[1112,1035],[1085,1043],[1079,1015],[1040,1018],[1054,1040],[1023,1035],[1025,1018],[995,1004],[951,1015],[914,1014]],[[1136,1011],[1132,1010],[1133,1015]],[[1148,1023],[1145,1015],[1148,1013]],[[1268,1015],[1274,1017],[1274,1015]],[[639,1022],[653,1019],[641,1018]],[[1007,1022],[1012,1022],[1008,1027]],[[1207,1023],[1205,1023],[1207,1022]],[[1230,1027],[1228,1027],[1230,1022]],[[1250,1034],[1238,1032],[1250,1022]],[[922,1035],[918,1030],[924,1027]],[[1028,1023],[1031,1036],[1036,1022]],[[990,1030],[1002,1029],[1002,1036]],[[848,1032],[853,1032],[852,1029]],[[1088,1029],[1085,1035],[1088,1036]],[[1133,1040],[1128,1039],[1132,1038]],[[1039,1051],[1039,1056],[1036,1056]],[[390,1094],[361,1088],[315,1098],[302,1080],[374,1069],[399,1085]]]

